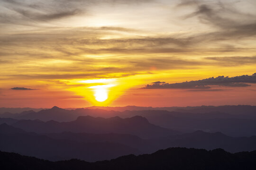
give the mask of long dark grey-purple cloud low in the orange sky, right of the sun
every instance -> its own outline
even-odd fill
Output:
[[[210,85],[228,86],[228,87],[247,87],[246,83],[256,83],[256,73],[252,76],[218,76],[210,77],[202,80],[186,81],[182,83],[164,83],[154,82],[152,85],[146,85],[143,89],[210,89]]]

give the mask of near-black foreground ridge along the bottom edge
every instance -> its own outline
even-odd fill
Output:
[[[121,156],[110,161],[46,161],[0,152],[1,170],[256,170],[256,151],[168,148],[152,154]]]

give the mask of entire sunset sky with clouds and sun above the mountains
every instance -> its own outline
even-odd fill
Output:
[[[0,107],[256,105],[255,0],[0,0]]]

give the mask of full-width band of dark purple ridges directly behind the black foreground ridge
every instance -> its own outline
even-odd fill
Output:
[[[196,131],[189,134],[142,139],[129,134],[29,133],[7,124],[0,125],[0,150],[51,161],[71,158],[85,161],[110,160],[125,154],[153,153],[169,147],[222,148],[229,152],[256,150],[256,136],[229,137]]]

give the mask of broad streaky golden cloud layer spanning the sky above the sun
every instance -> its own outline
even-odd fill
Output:
[[[203,23],[213,29],[190,31],[190,23],[188,23],[179,29],[181,31],[178,33],[170,30],[159,34],[154,30],[148,32],[146,30],[148,28],[139,30],[136,26],[132,27],[133,25],[104,26],[102,23],[102,26],[90,27],[85,22],[86,26],[75,27],[76,25],[63,26],[57,21],[80,14],[85,15],[84,18],[87,14],[93,15],[90,13],[93,10],[87,11],[87,9],[99,3],[108,9],[112,8],[111,3],[133,3],[133,5],[141,3],[137,0],[2,0],[2,2],[4,2],[3,7],[8,10],[0,12],[1,19],[10,19],[8,22],[11,24],[16,22],[34,24],[34,27],[29,29],[11,26],[15,28],[15,32],[9,32],[11,29],[0,26],[2,69],[9,70],[13,65],[16,68],[13,71],[5,71],[1,77],[5,79],[120,77],[149,74],[150,71],[154,73],[150,68],[161,71],[256,64],[256,57],[212,57],[239,55],[242,52],[251,55],[250,52],[255,51],[254,47],[250,48],[246,42],[243,42],[243,45],[240,41],[246,39],[247,35],[251,35],[250,39],[254,40],[255,17],[236,10],[232,5],[204,0],[182,0],[177,8],[186,8],[186,6],[190,8],[188,10],[190,13],[185,15],[184,23],[196,18],[201,22],[196,23],[199,26]],[[142,2],[150,2],[150,0]],[[154,3],[146,6],[155,8],[152,5]],[[170,9],[167,6],[166,8]],[[183,9],[181,11],[184,15]],[[97,11],[94,12],[97,14]],[[161,15],[162,13],[159,17]],[[238,20],[232,16],[237,17]],[[46,22],[51,21],[54,21],[54,25],[51,23],[46,26]],[[182,20],[181,22],[183,23]],[[1,23],[4,22],[0,21],[0,25]],[[44,23],[44,26],[37,26],[38,23]],[[175,25],[175,23],[165,24]],[[159,28],[161,27],[159,25]],[[234,43],[234,39],[239,41]],[[247,40],[251,41],[248,38]],[[250,45],[252,46],[253,43]],[[237,51],[239,54],[235,53]],[[60,64],[56,64],[57,62]]]

